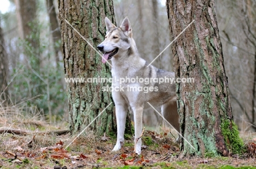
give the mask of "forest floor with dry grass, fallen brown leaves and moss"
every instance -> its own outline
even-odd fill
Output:
[[[111,152],[115,138],[96,137],[86,132],[74,140],[69,134],[63,134],[67,126],[67,122],[51,126],[39,120],[39,116],[28,118],[0,111],[0,168],[256,169],[256,133],[252,132],[241,132],[241,137],[251,150],[249,153],[229,157],[187,158],[179,152],[178,144],[173,142],[174,137],[166,128],[158,132],[146,129],[142,136],[142,154],[138,156],[133,155],[133,138],[126,138],[119,152]],[[59,130],[62,132],[57,132]]]

